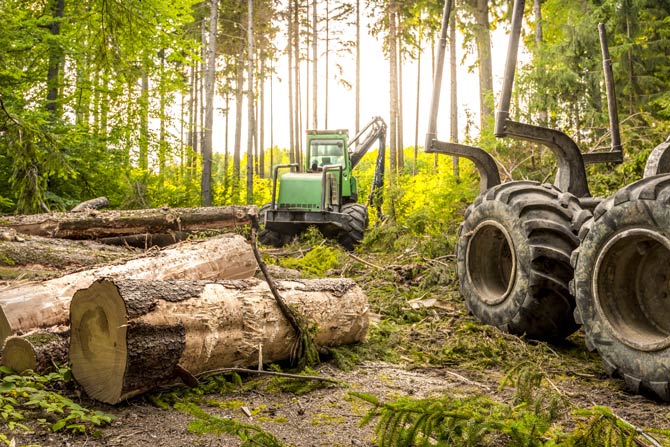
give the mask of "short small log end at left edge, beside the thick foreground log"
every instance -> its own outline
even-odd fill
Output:
[[[60,326],[9,337],[2,348],[2,364],[18,373],[49,373],[67,364],[69,335],[70,331]]]

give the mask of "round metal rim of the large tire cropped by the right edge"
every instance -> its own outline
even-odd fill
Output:
[[[670,240],[624,230],[601,250],[593,272],[596,311],[622,343],[642,351],[670,346]]]

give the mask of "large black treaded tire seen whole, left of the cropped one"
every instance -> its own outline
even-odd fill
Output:
[[[460,292],[480,321],[541,340],[578,325],[570,255],[591,213],[552,185],[503,183],[468,207],[456,247]]]

